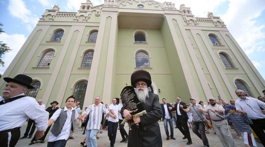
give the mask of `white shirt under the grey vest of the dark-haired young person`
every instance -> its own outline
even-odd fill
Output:
[[[62,131],[57,137],[51,132],[49,139],[48,139],[48,142],[54,142],[57,140],[67,140],[68,139],[68,137],[71,133],[71,127],[72,127],[72,110],[75,110],[75,108],[72,107],[71,111],[69,111],[66,106],[64,107],[64,111],[67,112],[67,119],[63,125]],[[51,117],[51,119],[53,119],[54,122],[60,116],[61,111],[62,111],[61,108],[59,108],[58,110],[56,110],[53,113],[53,116]],[[76,111],[75,120],[78,118],[78,116],[79,116],[79,114]],[[73,122],[73,124],[74,124],[74,122]]]

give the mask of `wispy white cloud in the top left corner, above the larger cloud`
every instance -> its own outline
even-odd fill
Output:
[[[8,11],[13,17],[25,23],[22,25],[26,25],[28,31],[32,31],[33,27],[39,21],[39,18],[27,9],[23,0],[9,0]]]

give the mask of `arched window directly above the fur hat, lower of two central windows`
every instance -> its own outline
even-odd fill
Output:
[[[139,51],[135,54],[136,68],[149,68],[149,57],[148,54]]]

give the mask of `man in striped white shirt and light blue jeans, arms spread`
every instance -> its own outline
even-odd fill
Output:
[[[86,144],[88,147],[97,147],[97,132],[100,129],[102,113],[107,114],[113,119],[116,119],[116,116],[109,113],[106,107],[100,103],[100,97],[95,98],[95,103],[91,104],[85,111],[82,117],[82,123],[84,118],[89,115],[89,120],[86,126]]]

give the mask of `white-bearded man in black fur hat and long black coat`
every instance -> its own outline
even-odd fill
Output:
[[[133,120],[132,131],[129,132],[128,147],[162,147],[162,139],[158,121],[162,118],[162,109],[159,104],[159,96],[148,92],[152,80],[150,73],[138,70],[132,73],[131,84],[135,89],[137,98],[146,114],[132,118],[132,111],[121,109],[126,120]]]

